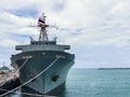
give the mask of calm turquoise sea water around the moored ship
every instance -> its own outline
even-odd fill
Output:
[[[21,91],[5,97],[37,97]],[[42,96],[40,96],[42,97]],[[58,97],[130,97],[130,70],[72,69]]]

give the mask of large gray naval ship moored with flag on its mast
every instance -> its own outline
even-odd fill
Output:
[[[31,26],[35,27],[35,26]],[[11,65],[18,71],[23,86],[44,95],[58,95],[65,88],[66,77],[74,65],[75,55],[67,53],[69,45],[56,44],[56,38],[49,40],[42,14],[38,19],[39,40],[30,38],[30,44],[16,45],[21,51],[12,55]]]

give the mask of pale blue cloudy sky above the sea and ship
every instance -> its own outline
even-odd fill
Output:
[[[44,13],[57,43],[69,44],[73,68],[130,68],[130,0],[0,0],[0,66],[10,66],[15,45],[38,39]]]

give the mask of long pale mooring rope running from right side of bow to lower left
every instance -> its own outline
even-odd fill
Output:
[[[56,59],[55,59],[54,61],[52,61],[52,64],[50,64],[49,67],[47,67],[44,70],[42,70],[40,73],[38,73],[38,74],[37,74],[36,77],[34,77],[32,79],[28,80],[28,81],[25,82],[24,84],[17,86],[17,87],[14,88],[14,89],[11,89],[11,91],[2,94],[2,95],[0,95],[0,96],[2,97],[2,96],[4,96],[4,95],[6,95],[6,94],[10,94],[10,93],[12,93],[13,91],[18,89],[18,88],[21,88],[22,86],[24,86],[24,85],[28,84],[29,82],[31,82],[32,80],[37,79],[39,75],[41,75],[43,72],[46,72],[49,68],[51,68],[51,67],[53,66],[53,64],[55,64],[55,63],[57,61],[58,58],[60,58],[60,57],[56,57]]]

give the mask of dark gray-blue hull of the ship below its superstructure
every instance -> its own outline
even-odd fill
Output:
[[[20,53],[11,57],[12,66],[18,70],[27,87],[46,95],[58,95],[65,87],[66,77],[74,65],[75,56],[58,51],[35,51]]]

